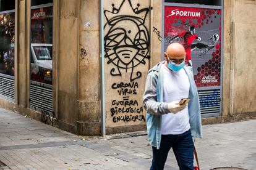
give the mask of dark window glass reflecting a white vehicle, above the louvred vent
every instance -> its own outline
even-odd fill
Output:
[[[45,5],[35,2],[40,1],[32,1],[36,6],[31,10],[30,79],[39,83],[53,84],[53,7],[49,6],[50,1],[47,3],[44,1]]]

